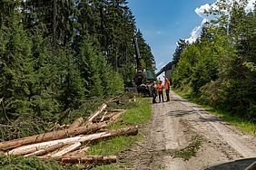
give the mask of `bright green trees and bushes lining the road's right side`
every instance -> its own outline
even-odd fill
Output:
[[[256,121],[256,11],[219,1],[196,42],[180,40],[172,60],[175,89],[202,104]],[[254,8],[255,9],[255,8]]]

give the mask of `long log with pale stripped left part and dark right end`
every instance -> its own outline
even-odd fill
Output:
[[[78,136],[78,137],[68,137],[64,139],[58,139],[48,142],[42,142],[38,144],[33,144],[29,146],[19,146],[17,148],[14,148],[8,152],[8,155],[25,155],[32,152],[35,152],[36,150],[44,149],[45,147],[54,146],[58,143],[64,143],[66,145],[74,144],[76,142],[94,142],[94,141],[100,141],[104,138],[108,137],[115,137],[115,136],[121,136],[121,135],[137,135],[138,133],[138,127],[124,127],[116,130],[109,130],[106,132],[101,133],[95,133],[91,135],[84,135],[84,136]]]

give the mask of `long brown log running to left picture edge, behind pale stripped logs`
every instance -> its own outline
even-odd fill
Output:
[[[101,122],[97,124],[93,124],[90,127],[77,127],[72,129],[63,129],[63,130],[57,130],[53,132],[48,132],[44,134],[35,135],[32,137],[24,137],[24,138],[18,138],[11,141],[1,142],[0,143],[0,150],[8,150],[10,148],[15,148],[17,146],[25,146],[35,143],[41,143],[46,141],[51,141],[54,139],[60,139],[64,137],[73,137],[80,134],[86,134],[95,130],[98,130],[102,127],[106,127],[106,123]]]

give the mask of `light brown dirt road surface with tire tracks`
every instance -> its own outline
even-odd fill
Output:
[[[197,170],[234,159],[256,157],[256,138],[243,134],[207,110],[171,93],[170,102],[153,104],[153,118],[143,132],[146,139],[131,149],[129,169]],[[202,143],[189,160],[175,152]]]

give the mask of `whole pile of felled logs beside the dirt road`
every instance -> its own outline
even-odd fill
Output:
[[[77,118],[70,126],[32,137],[23,137],[0,143],[6,156],[37,156],[54,158],[63,163],[106,164],[116,162],[116,156],[86,156],[90,142],[121,135],[136,135],[138,127],[105,130],[108,124],[121,121],[125,110],[107,109],[103,104],[89,118]]]

